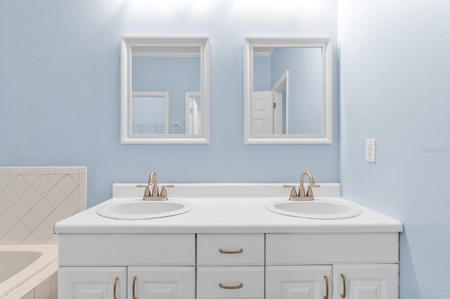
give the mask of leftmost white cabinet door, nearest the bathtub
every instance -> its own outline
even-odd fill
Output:
[[[60,267],[58,281],[59,298],[127,298],[127,267]]]

